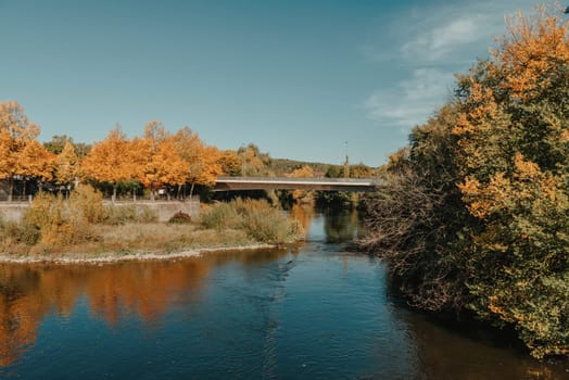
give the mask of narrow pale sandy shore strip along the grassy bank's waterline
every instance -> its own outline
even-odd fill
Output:
[[[257,251],[275,249],[274,244],[252,244],[239,246],[222,246],[222,248],[205,248],[195,250],[185,250],[178,252],[156,253],[156,252],[132,252],[128,254],[123,253],[104,253],[101,255],[89,254],[65,254],[65,255],[30,255],[30,256],[13,256],[0,254],[0,264],[110,264],[121,262],[144,262],[144,261],[160,261],[160,259],[175,259],[198,257],[206,253],[228,252],[228,251]]]

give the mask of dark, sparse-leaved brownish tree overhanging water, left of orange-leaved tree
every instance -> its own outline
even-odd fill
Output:
[[[363,248],[387,258],[409,304],[460,314],[470,301],[458,236],[471,223],[456,186],[457,104],[413,129],[409,147],[391,155],[385,188],[363,199],[370,230]],[[464,242],[465,245],[468,242]]]

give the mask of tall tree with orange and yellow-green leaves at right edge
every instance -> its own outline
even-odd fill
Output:
[[[470,307],[535,356],[569,353],[569,25],[521,13],[492,60],[459,78],[459,189],[479,223]]]

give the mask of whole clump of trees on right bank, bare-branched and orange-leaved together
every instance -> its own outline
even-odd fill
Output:
[[[569,354],[569,29],[519,15],[455,97],[390,157],[362,245],[413,306]]]

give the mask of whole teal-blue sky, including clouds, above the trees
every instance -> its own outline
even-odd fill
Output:
[[[150,119],[222,149],[384,163],[534,1],[0,0],[0,100],[40,140]],[[347,141],[347,144],[345,143]]]

